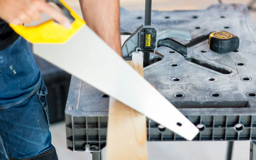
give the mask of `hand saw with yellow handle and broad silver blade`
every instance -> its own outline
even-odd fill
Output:
[[[95,34],[63,0],[55,2],[72,16],[70,29],[49,20],[38,26],[10,24],[33,43],[34,54],[73,74],[187,140],[199,132],[151,84]],[[136,82],[136,83],[131,83]]]

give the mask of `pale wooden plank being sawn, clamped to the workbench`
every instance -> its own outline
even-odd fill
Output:
[[[143,76],[142,53],[134,54],[128,63]],[[147,160],[146,142],[146,116],[111,97],[106,160]]]

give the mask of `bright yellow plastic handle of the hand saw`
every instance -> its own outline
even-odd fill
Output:
[[[10,23],[10,27],[31,43],[65,43],[85,25],[85,22],[63,0],[49,1],[60,2],[70,12],[70,15],[74,18],[70,28],[64,28],[54,20],[48,20],[37,26],[26,27]]]

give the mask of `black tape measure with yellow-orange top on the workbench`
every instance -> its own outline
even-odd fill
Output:
[[[213,32],[209,36],[210,50],[218,53],[228,53],[237,50],[239,38],[226,31]]]

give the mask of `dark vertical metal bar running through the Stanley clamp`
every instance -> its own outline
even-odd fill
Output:
[[[146,0],[145,2],[145,25],[151,24],[151,6],[152,0]],[[143,67],[149,65],[150,52],[144,52],[143,54]]]

